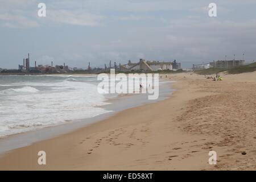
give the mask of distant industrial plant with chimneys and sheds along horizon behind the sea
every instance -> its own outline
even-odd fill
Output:
[[[63,65],[53,65],[53,61],[51,61],[51,65],[37,65],[36,61],[31,63],[30,53],[28,53],[27,57],[23,59],[23,64],[19,64],[18,69],[0,69],[0,73],[3,74],[45,74],[45,73],[69,73],[69,72],[85,72],[85,73],[102,73],[109,72],[110,69],[115,69],[116,71],[122,72],[130,72],[130,71],[164,71],[164,70],[177,70],[181,69],[181,64],[174,61],[146,61],[144,59],[140,59],[138,63],[131,63],[129,60],[127,64],[119,63],[117,65],[116,62],[112,64],[112,61],[109,61],[109,65],[105,64],[105,68],[92,68],[90,66],[90,62],[87,69],[82,68],[71,68],[65,63]],[[34,66],[31,66],[33,64]]]

